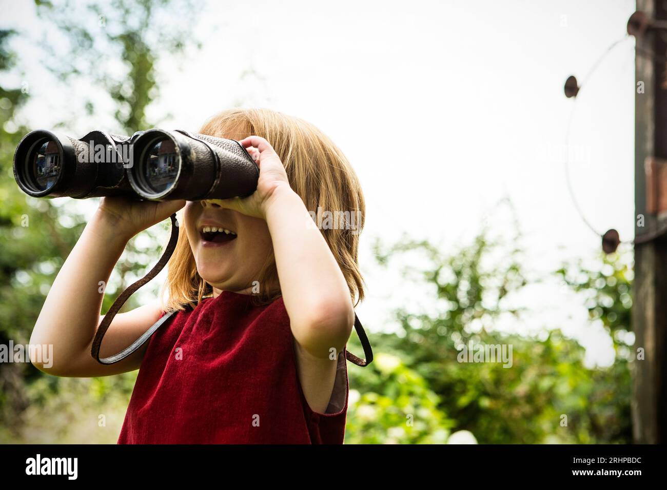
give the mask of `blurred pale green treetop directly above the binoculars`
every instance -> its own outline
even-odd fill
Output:
[[[59,52],[45,35],[45,65],[61,81],[85,77],[99,87],[115,103],[115,119],[126,133],[147,129],[159,122],[146,115],[166,76],[157,69],[159,57],[200,46],[192,27],[201,8],[197,0],[41,2],[39,17],[57,26],[67,43]],[[87,99],[85,108],[94,114],[97,101]]]

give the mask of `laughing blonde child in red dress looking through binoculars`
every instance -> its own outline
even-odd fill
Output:
[[[53,345],[57,376],[139,375],[118,443],[343,443],[346,343],[364,298],[358,237],[364,196],[343,153],[313,125],[267,109],[231,109],[200,133],[236,139],[259,165],[249,197],[101,200],[59,271],[30,342]],[[167,301],[116,315],[91,357],[106,283],[127,241],[179,209]],[[350,211],[319,229],[308,211]],[[162,296],[163,297],[163,296]]]

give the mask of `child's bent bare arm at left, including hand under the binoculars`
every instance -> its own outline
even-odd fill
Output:
[[[147,343],[123,361],[111,365],[102,365],[91,356],[93,337],[101,322],[104,296],[101,288],[109,281],[127,241],[184,204],[185,201],[153,203],[122,197],[103,198],[53,281],[39,313],[30,344],[53,345],[53,350],[47,362],[31,359],[35,367],[49,374],[75,377],[113,375],[139,367]],[[104,337],[101,357],[130,345],[160,314],[156,301],[116,315]]]

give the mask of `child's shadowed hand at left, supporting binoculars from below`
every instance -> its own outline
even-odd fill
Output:
[[[138,201],[124,196],[103,197],[97,213],[128,240],[185,206],[179,201]]]

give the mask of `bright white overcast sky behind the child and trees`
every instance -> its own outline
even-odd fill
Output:
[[[31,3],[0,1],[9,9],[2,25],[36,23]],[[197,130],[242,100],[306,119],[336,141],[366,195],[368,301],[358,314],[374,331],[390,325],[392,307],[420,297],[373,267],[373,237],[392,242],[405,232],[454,251],[487,215],[495,232],[508,227],[494,208],[510,197],[532,275],[596,257],[600,239],[576,213],[564,177],[573,101],[563,85],[571,74],[583,80],[624,37],[634,8],[625,0],[211,1],[195,29],[202,51],[163,61],[169,81],[149,114],[171,113],[165,129]],[[633,233],[633,46],[632,38],[618,45],[584,85],[570,152],[586,217],[622,239]],[[27,67],[30,79],[38,67]],[[248,69],[255,74],[241,77]],[[48,87],[32,86],[42,97],[25,117],[37,129],[57,103],[45,97]],[[83,123],[103,120],[77,121],[71,131],[83,135],[93,129]],[[514,328],[560,327],[590,359],[610,360],[610,343],[588,324],[580,299],[542,286],[522,301],[532,313]]]

